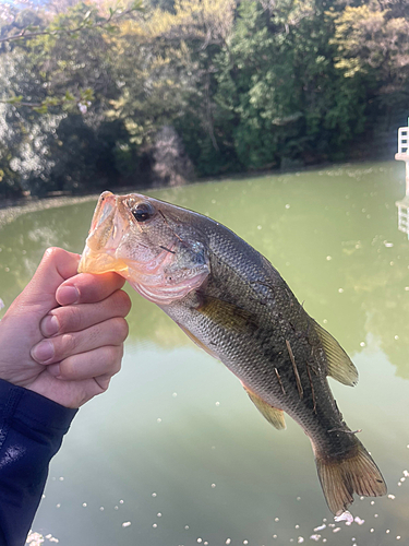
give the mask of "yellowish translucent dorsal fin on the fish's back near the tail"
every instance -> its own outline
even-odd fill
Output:
[[[314,327],[325,352],[327,375],[342,384],[354,387],[358,383],[358,370],[347,353],[315,320]]]

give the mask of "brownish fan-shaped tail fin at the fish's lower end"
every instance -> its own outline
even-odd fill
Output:
[[[329,510],[339,515],[353,502],[353,494],[363,497],[386,495],[386,484],[372,456],[357,439],[357,449],[345,459],[315,453],[316,470]]]

